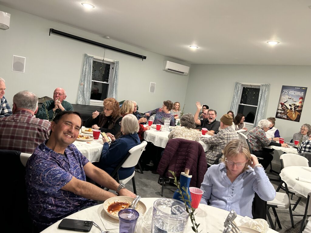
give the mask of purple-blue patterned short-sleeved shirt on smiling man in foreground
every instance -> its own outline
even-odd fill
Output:
[[[39,231],[58,220],[93,206],[93,200],[61,190],[72,176],[86,181],[83,166],[88,163],[80,151],[70,144],[65,153],[59,154],[40,144],[26,164],[28,210]]]

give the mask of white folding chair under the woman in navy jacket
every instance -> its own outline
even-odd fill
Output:
[[[128,156],[128,158],[123,162],[123,164],[121,165],[121,167],[135,167],[139,161],[140,156],[142,155],[142,152],[144,151],[145,147],[147,145],[146,141],[143,141],[141,144],[134,146],[133,148],[131,148],[128,153],[130,153],[130,155]],[[132,183],[133,183],[133,191],[136,194],[136,185],[135,185],[135,170],[133,171],[132,175],[123,179],[123,180],[119,180],[120,183],[126,184],[129,180],[132,179]]]

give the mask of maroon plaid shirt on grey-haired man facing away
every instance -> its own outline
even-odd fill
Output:
[[[9,117],[0,118],[0,148],[32,154],[35,148],[49,139],[51,123],[35,118],[20,110]]]

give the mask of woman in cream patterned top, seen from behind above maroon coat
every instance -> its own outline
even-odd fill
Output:
[[[180,126],[175,128],[169,133],[168,138],[182,138],[190,141],[199,141],[199,134],[194,130],[194,117],[191,113],[184,114],[180,118]]]

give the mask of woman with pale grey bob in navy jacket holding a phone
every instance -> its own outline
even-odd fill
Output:
[[[132,147],[140,144],[137,135],[139,124],[137,118],[133,114],[125,115],[119,124],[121,125],[122,135],[118,139],[115,139],[114,135],[107,133],[107,136],[112,141],[110,147],[107,139],[103,137],[104,146],[101,151],[100,161],[96,164],[96,166],[100,167],[108,174],[114,171]],[[127,178],[133,171],[134,167],[121,167],[118,171],[119,179]]]

